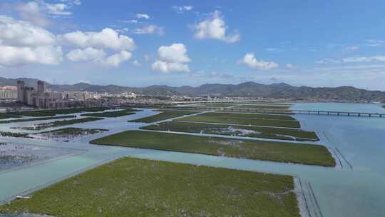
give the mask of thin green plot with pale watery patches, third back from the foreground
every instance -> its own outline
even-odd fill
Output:
[[[292,128],[270,128],[258,126],[231,126],[227,124],[190,123],[168,121],[141,127],[153,131],[178,131],[189,133],[210,133],[228,136],[247,136],[259,138],[275,138],[297,141],[319,141],[316,133]]]

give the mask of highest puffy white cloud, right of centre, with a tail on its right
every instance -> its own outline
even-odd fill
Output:
[[[196,39],[218,39],[227,43],[240,41],[240,34],[227,34],[227,26],[220,11],[214,11],[205,21],[194,26]]]

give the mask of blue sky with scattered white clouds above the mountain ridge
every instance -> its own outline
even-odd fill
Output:
[[[1,1],[0,76],[385,91],[385,1]]]

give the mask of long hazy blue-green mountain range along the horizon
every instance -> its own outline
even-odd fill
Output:
[[[37,79],[4,79],[0,77],[0,85],[16,85],[18,80],[26,82],[27,86],[36,86]],[[203,84],[201,86],[172,87],[153,85],[148,87],[128,87],[117,85],[92,85],[78,83],[73,85],[46,84],[54,91],[91,91],[111,94],[134,92],[135,94],[172,96],[248,96],[271,99],[306,100],[306,101],[379,101],[385,102],[385,92],[356,89],[353,86],[336,88],[313,88],[309,86],[291,86],[289,84],[257,84],[249,81],[241,84]]]

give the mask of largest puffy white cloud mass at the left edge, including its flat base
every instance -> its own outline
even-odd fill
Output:
[[[0,65],[55,65],[62,61],[56,36],[26,21],[0,16]]]

